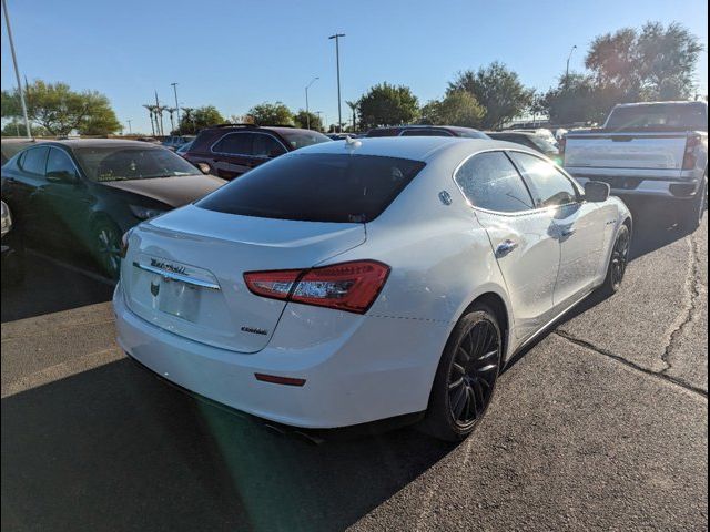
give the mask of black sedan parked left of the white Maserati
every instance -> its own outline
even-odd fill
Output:
[[[26,147],[2,167],[1,181],[28,244],[85,252],[111,277],[123,233],[224,183],[164,147],[119,140]]]

